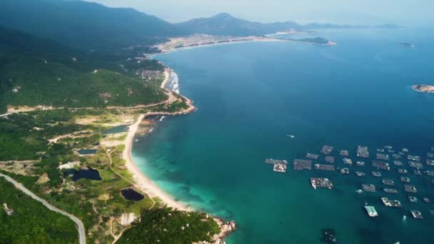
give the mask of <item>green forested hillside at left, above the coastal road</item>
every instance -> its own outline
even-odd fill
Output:
[[[133,106],[167,98],[141,77],[163,70],[156,61],[133,59],[143,55],[141,47],[85,54],[9,29],[0,28],[0,37],[0,112],[6,105]]]

